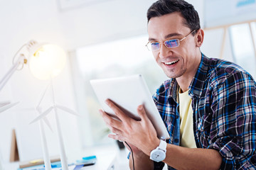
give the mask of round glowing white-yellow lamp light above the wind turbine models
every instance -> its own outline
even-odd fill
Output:
[[[50,79],[60,74],[65,67],[66,54],[58,45],[41,45],[31,52],[28,62],[34,77]]]

